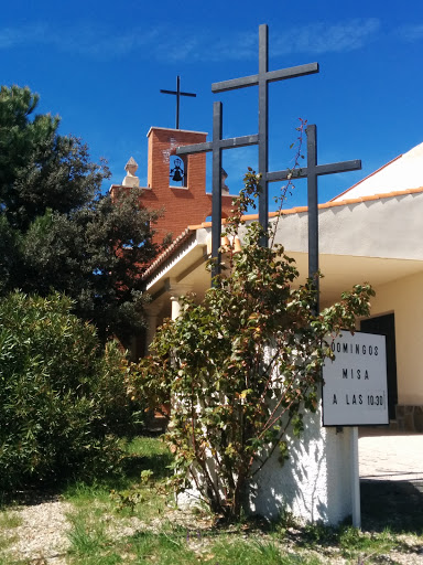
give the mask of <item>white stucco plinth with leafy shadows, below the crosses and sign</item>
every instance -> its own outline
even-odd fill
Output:
[[[289,438],[290,459],[275,454],[263,467],[251,511],[275,519],[288,510],[305,522],[337,524],[352,513],[351,429],[323,428],[322,414],[305,418],[300,439]]]

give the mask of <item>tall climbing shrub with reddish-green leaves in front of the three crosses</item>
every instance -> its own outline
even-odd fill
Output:
[[[294,260],[281,245],[262,247],[257,223],[242,216],[254,206],[259,177],[250,171],[229,218],[226,235],[242,231],[242,250],[224,248],[226,271],[202,303],[183,300],[180,317],[165,321],[151,355],[134,369],[131,394],[153,406],[174,399],[166,434],[175,451],[173,483],[194,483],[209,508],[240,515],[254,477],[292,426],[300,436],[303,416],[318,406],[322,366],[329,341],[340,329],[354,331],[369,313],[370,286],[356,286],[341,300],[315,313],[313,280],[297,281]]]

